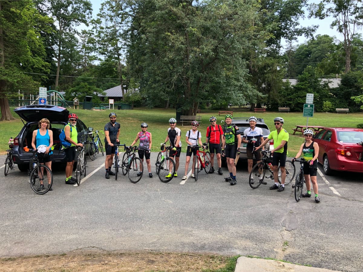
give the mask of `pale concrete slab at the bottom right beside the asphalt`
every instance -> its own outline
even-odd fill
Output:
[[[276,260],[239,257],[234,272],[333,272],[334,270],[284,263]],[[335,271],[336,272],[336,271]]]

